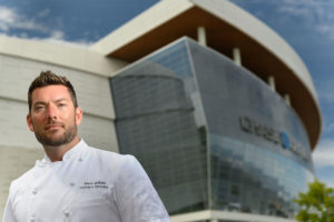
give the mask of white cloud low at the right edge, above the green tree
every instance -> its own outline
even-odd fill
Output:
[[[324,139],[318,143],[313,152],[313,161],[318,169],[334,167],[334,139]]]

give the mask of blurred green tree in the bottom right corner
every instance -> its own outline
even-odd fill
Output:
[[[306,193],[299,193],[295,202],[301,210],[296,220],[302,222],[334,222],[334,190],[318,180],[308,184]]]

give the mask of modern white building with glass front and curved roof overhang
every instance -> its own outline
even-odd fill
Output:
[[[311,75],[222,0],[161,0],[88,49],[0,38],[0,201],[43,154],[26,127],[41,70],[67,75],[92,147],[136,155],[174,222],[293,221],[322,127]]]

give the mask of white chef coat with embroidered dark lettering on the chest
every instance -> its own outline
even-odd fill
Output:
[[[3,222],[170,222],[132,155],[81,140],[62,161],[46,155],[10,185]]]

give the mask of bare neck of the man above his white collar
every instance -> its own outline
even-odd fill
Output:
[[[59,145],[59,147],[49,147],[43,145],[45,152],[50,159],[51,162],[62,161],[63,154],[72,149],[76,144],[80,142],[80,139],[76,137],[71,142]]]

